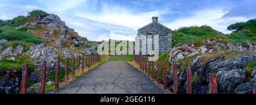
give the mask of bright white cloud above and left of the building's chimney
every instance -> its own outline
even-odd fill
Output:
[[[150,11],[135,14],[131,10],[119,6],[108,6],[103,4],[102,11],[93,12],[82,12],[77,11],[74,15],[100,21],[104,23],[123,25],[133,29],[139,29],[148,23],[151,23],[152,16],[160,16],[164,14],[163,11]]]

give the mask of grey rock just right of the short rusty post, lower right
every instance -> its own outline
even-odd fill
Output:
[[[246,78],[246,72],[242,69],[232,69],[230,71],[218,71],[217,82],[219,93],[230,94]]]

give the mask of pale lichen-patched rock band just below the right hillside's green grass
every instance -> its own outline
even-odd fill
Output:
[[[254,42],[246,41],[247,46],[243,47],[240,43],[237,43],[235,47],[231,42],[216,41],[214,39],[203,40],[203,45],[197,42],[185,44],[181,46],[175,46],[172,48],[173,59],[170,62],[177,62],[177,60],[185,59],[186,57],[198,55],[198,54],[210,54],[214,52],[227,52],[227,51],[250,51],[256,52]]]

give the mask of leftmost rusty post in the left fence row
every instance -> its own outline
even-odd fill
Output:
[[[28,77],[28,64],[23,64],[22,68],[22,81],[20,85],[20,93],[26,94],[27,93],[27,77]]]

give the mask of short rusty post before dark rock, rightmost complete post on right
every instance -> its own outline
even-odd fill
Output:
[[[209,77],[210,87],[209,87],[209,94],[218,94],[217,92],[217,80],[216,74],[211,73]]]

